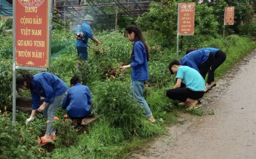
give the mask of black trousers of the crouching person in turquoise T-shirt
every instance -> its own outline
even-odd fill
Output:
[[[186,102],[187,98],[194,100],[201,99],[204,96],[204,92],[192,91],[189,88],[182,87],[167,90],[166,95],[170,99]]]

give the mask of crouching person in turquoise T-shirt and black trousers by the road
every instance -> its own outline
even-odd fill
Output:
[[[167,97],[180,100],[184,106],[201,107],[201,105],[197,105],[198,99],[203,97],[206,90],[201,74],[191,67],[181,66],[178,60],[171,61],[169,69],[171,74],[177,74],[177,81],[173,89],[167,90]],[[185,87],[181,87],[182,83]]]

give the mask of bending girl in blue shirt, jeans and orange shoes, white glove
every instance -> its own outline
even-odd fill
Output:
[[[32,96],[32,113],[30,118],[26,120],[26,124],[33,121],[36,110],[43,111],[43,115],[47,119],[47,129],[44,137],[38,140],[40,145],[55,140],[55,130],[52,128],[54,115],[62,100],[67,95],[67,85],[57,76],[51,73],[38,73],[31,75],[24,73],[16,79],[17,89],[30,90]],[[41,105],[41,98],[45,97]]]

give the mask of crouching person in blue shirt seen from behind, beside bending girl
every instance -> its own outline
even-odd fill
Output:
[[[78,119],[80,124],[85,124],[85,118],[91,112],[92,96],[88,86],[81,85],[80,78],[73,76],[70,80],[71,88],[67,97],[63,100],[62,108],[67,109],[69,118],[73,120],[73,125],[77,125]]]

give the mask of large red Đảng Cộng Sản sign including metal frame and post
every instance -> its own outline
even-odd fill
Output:
[[[52,0],[12,0],[12,121],[16,121],[16,69],[50,71]]]

